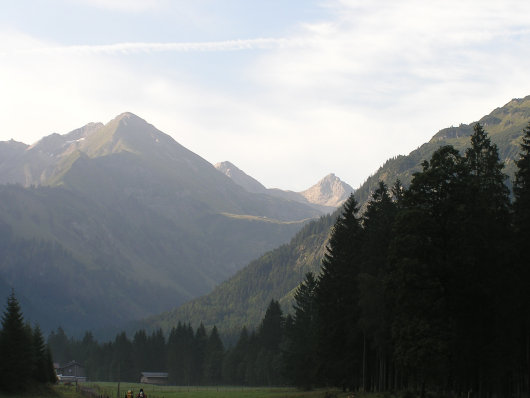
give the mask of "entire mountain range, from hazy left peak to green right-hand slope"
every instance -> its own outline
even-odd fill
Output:
[[[509,175],[529,120],[526,97],[478,121]],[[464,150],[473,124],[389,159],[355,191],[361,206],[380,180],[408,185],[440,146]],[[333,175],[303,192],[267,189],[130,113],[31,146],[0,142],[0,183],[0,287],[44,330],[78,331],[143,318],[136,325],[237,333],[271,299],[288,310],[305,273],[320,270],[336,218],[323,211],[351,189]]]

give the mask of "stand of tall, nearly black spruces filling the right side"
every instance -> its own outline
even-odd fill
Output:
[[[408,189],[353,196],[318,277],[286,322],[283,362],[302,387],[439,396],[529,392],[530,125],[513,184],[482,126],[437,150]]]

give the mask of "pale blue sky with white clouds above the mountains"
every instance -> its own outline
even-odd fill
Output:
[[[359,187],[437,131],[530,95],[530,2],[17,0],[0,141],[132,112],[215,164]]]

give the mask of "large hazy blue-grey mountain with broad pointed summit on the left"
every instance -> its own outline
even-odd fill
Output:
[[[178,306],[321,214],[246,191],[131,113],[0,155],[0,284],[44,329]]]

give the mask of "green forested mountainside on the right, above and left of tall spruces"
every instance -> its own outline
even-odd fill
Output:
[[[529,121],[530,96],[514,99],[479,120],[492,142],[498,146],[499,155],[506,165],[505,172],[512,178],[515,171],[514,161],[520,152],[522,130]],[[462,124],[459,127],[440,130],[428,143],[409,155],[400,155],[388,160],[355,191],[360,205],[365,205],[380,180],[391,186],[396,179],[400,179],[408,186],[412,174],[420,170],[421,162],[430,159],[432,153],[440,146],[453,145],[464,151],[469,146],[474,124]],[[293,292],[305,273],[320,271],[330,227],[336,216],[337,213],[312,221],[289,244],[252,261],[235,276],[216,287],[212,293],[151,317],[143,325],[170,328],[178,321],[192,322],[194,325],[203,322],[206,326],[217,325],[225,334],[233,334],[243,325],[257,326],[271,299],[280,300],[284,309],[290,310]]]

